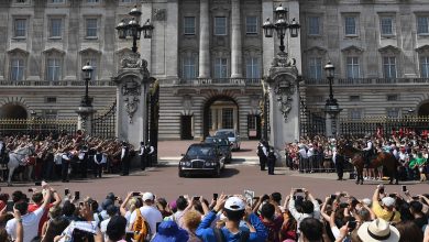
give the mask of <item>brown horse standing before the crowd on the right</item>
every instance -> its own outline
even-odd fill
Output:
[[[345,155],[351,157],[351,163],[356,167],[358,176],[356,184],[363,184],[363,169],[365,164],[365,158],[363,156],[363,151],[358,150],[349,144],[340,144],[338,146],[338,153],[340,155]],[[380,152],[376,156],[371,157],[370,168],[377,168],[380,166],[385,166],[387,168],[387,173],[391,177],[391,183],[395,177],[396,185],[398,184],[398,173],[397,173],[397,161],[395,156],[391,153]]]

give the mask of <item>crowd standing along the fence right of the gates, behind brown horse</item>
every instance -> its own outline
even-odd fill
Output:
[[[302,138],[300,141],[285,145],[286,166],[300,173],[342,172],[346,168],[353,172],[354,167],[349,163],[352,157],[346,157],[338,152],[339,142],[349,143],[363,151],[366,161],[371,161],[372,154],[378,152],[392,153],[398,162],[398,174],[402,180],[426,182],[429,174],[428,147],[429,140],[426,133],[417,134],[393,133],[392,135],[366,135],[364,138],[336,138],[328,139],[316,135],[312,139]],[[383,166],[364,169],[365,179],[383,179]]]

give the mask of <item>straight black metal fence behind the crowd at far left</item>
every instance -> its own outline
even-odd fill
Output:
[[[74,134],[77,130],[77,120],[56,119],[1,119],[0,135],[25,134],[31,138],[37,135]]]

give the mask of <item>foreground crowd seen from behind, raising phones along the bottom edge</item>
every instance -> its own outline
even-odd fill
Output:
[[[367,198],[346,191],[315,198],[306,188],[260,197],[183,195],[167,202],[150,191],[64,197],[40,190],[0,194],[0,241],[153,242],[429,242],[429,194],[374,187]]]

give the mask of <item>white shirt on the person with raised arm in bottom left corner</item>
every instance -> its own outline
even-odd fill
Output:
[[[33,238],[37,237],[38,222],[43,216],[44,207],[37,208],[33,212],[29,212],[22,216],[22,227],[24,229],[24,242],[30,242]],[[11,219],[6,224],[6,231],[15,240],[16,239],[16,219]]]

